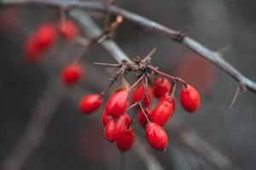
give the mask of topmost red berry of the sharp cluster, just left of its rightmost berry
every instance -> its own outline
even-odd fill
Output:
[[[154,81],[153,93],[154,96],[158,99],[164,94],[168,93],[171,89],[171,82],[166,78],[158,78]]]

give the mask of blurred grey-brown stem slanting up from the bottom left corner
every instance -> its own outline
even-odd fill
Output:
[[[3,161],[4,170],[20,170],[43,138],[51,117],[54,116],[56,107],[65,94],[64,88],[58,82],[59,79],[56,76],[49,78],[48,85],[38,100],[35,111],[33,111],[33,115],[26,126],[25,133],[17,141],[15,149]]]

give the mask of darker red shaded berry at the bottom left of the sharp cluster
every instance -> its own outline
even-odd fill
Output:
[[[116,146],[120,151],[127,151],[131,149],[132,144],[135,140],[134,129],[130,127],[125,127],[123,133],[120,134],[119,138],[116,140]]]

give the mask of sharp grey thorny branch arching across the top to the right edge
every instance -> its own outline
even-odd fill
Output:
[[[218,52],[213,51],[199,42],[196,42],[191,37],[185,37],[184,31],[174,31],[166,26],[162,26],[152,20],[148,20],[143,16],[126,11],[123,8],[119,8],[106,3],[87,2],[87,1],[63,1],[63,0],[2,0],[0,4],[6,5],[45,5],[50,7],[65,7],[65,8],[83,8],[86,10],[96,10],[101,12],[111,12],[113,14],[121,14],[125,19],[136,23],[138,26],[143,26],[148,30],[158,32],[164,36],[183,44],[185,47],[191,49],[202,57],[212,61],[213,64],[218,65],[223,71],[230,74],[243,89],[251,90],[256,93],[256,82],[253,82],[249,78],[237,71],[235,67],[230,65],[224,57],[220,56]]]

